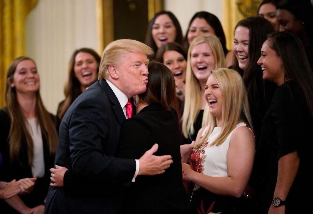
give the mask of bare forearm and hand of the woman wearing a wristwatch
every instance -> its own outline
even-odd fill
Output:
[[[286,200],[290,187],[295,180],[299,164],[300,158],[296,150],[280,157],[278,160],[278,174],[274,197],[278,197],[283,201]],[[269,213],[285,213],[285,206],[274,207],[272,204],[269,208]]]

